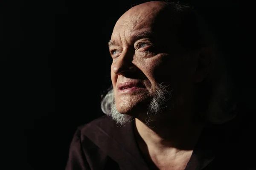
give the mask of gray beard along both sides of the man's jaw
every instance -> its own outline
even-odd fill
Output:
[[[155,93],[149,102],[148,109],[147,109],[147,117],[145,118],[145,123],[148,123],[152,120],[152,117],[158,115],[163,112],[163,109],[167,107],[167,103],[170,104],[170,99],[172,97],[171,91],[168,91],[167,86],[158,84],[157,88],[155,89]],[[172,106],[174,103],[172,102]],[[116,103],[113,100],[113,105],[111,106],[111,112],[108,114],[112,117],[113,120],[119,126],[125,126],[129,122],[133,120],[133,117],[130,115],[122,114],[117,111]]]

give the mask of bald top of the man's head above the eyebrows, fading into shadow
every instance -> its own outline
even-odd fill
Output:
[[[119,18],[112,37],[128,27],[141,30],[150,27],[148,31],[154,34],[154,38],[160,38],[162,45],[175,49],[198,49],[209,43],[209,34],[205,34],[198,17],[190,6],[163,1],[146,2],[130,8]]]

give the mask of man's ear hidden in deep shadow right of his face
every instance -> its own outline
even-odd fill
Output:
[[[193,80],[194,82],[202,82],[212,66],[212,49],[209,47],[201,48],[195,55],[196,65]]]

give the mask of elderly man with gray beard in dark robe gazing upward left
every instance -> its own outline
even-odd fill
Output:
[[[67,170],[239,167],[221,130],[235,117],[226,107],[227,74],[191,7],[162,1],[134,6],[116,22],[108,46],[107,115],[78,128]]]

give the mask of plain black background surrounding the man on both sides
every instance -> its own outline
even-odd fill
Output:
[[[1,119],[8,169],[64,169],[76,127],[102,115],[100,96],[110,85],[107,42],[132,5],[145,1],[44,0],[9,2],[4,15],[3,59],[10,66],[7,110]],[[255,123],[255,4],[195,0],[226,56],[244,124]],[[6,57],[6,58],[5,58]],[[5,114],[6,113],[6,114]]]

